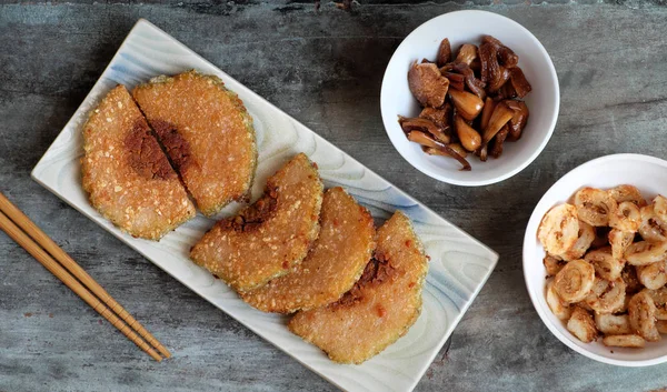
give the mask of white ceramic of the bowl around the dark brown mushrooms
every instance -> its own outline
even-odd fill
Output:
[[[480,162],[469,155],[472,171],[459,171],[460,164],[445,157],[430,157],[407,140],[397,117],[417,117],[419,103],[408,87],[410,64],[422,58],[435,60],[444,38],[456,53],[462,43],[479,44],[482,34],[491,34],[519,56],[519,67],[532,86],[526,97],[530,117],[521,139],[506,143],[499,159]],[[537,38],[519,23],[485,11],[457,11],[434,18],[412,31],[398,47],[382,80],[380,108],[385,129],[398,152],[425,174],[457,185],[478,187],[502,181],[525,169],[547,145],[558,118],[560,93],[554,63]]]

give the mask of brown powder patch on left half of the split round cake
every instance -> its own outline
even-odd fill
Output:
[[[160,149],[158,141],[151,135],[143,120],[135,122],[132,130],[125,139],[130,168],[139,175],[150,180],[169,180],[176,178],[169,161]]]

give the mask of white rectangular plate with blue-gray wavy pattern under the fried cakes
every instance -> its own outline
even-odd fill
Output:
[[[190,69],[220,77],[243,100],[255,120],[259,165],[253,199],[261,194],[267,177],[295,153],[305,152],[317,162],[327,188],[344,187],[371,211],[376,220],[381,221],[396,210],[410,217],[431,257],[424,310],[410,331],[382,353],[361,365],[334,363],[319,349],[291,334],[286,328],[286,316],[250,308],[225,283],[189,261],[190,247],[213,224],[213,220],[199,214],[160,242],[152,242],[122,233],[90,205],[81,189],[79,168],[79,159],[83,154],[81,127],[89,110],[117,84],[125,84],[131,90],[152,77]],[[146,20],[139,20],[130,31],[83,103],[33,169],[32,178],[255,333],[348,391],[412,390],[498,260],[492,250]],[[220,217],[238,208],[238,204],[229,205]]]

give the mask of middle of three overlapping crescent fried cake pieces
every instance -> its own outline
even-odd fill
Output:
[[[241,294],[265,312],[292,313],[338,301],[361,275],[375,249],[372,217],[342,188],[325,193],[320,233],[295,270]]]

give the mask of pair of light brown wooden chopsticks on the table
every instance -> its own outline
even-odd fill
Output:
[[[160,354],[171,356],[150,332],[1,192],[0,229],[156,361],[162,360]]]

